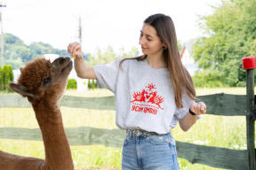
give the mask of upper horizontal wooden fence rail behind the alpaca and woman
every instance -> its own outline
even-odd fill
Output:
[[[207,114],[221,116],[245,116],[246,96],[214,94],[199,96],[207,105]],[[60,106],[94,110],[116,110],[115,97],[71,97],[64,96]],[[0,107],[31,107],[27,98],[20,95],[1,95]]]

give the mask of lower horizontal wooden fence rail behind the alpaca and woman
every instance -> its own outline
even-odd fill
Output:
[[[125,131],[120,129],[102,129],[91,127],[65,128],[70,145],[96,145],[122,148]],[[0,138],[43,141],[39,128],[0,128]],[[225,169],[248,169],[246,151],[230,150],[193,143],[177,143],[179,158],[185,158],[192,164]]]

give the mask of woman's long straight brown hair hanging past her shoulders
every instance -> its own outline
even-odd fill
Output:
[[[144,24],[155,27],[157,35],[167,45],[167,49],[163,51],[163,56],[172,79],[173,89],[175,91],[175,104],[177,107],[183,107],[181,92],[187,94],[193,100],[198,100],[192,78],[181,63],[176,31],[171,17],[157,13],[145,19]],[[126,59],[137,59],[141,61],[146,58],[147,55],[136,58],[124,58],[120,62],[119,67],[122,69],[122,64]]]

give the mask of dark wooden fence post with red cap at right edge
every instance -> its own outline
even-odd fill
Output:
[[[255,57],[242,58],[243,69],[246,69],[246,135],[249,170],[255,170],[255,142],[254,142],[254,68]]]

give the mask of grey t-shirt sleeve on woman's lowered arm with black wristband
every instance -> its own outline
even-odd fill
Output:
[[[186,95],[184,93],[182,93],[181,98],[182,98],[183,108],[176,108],[173,118],[172,118],[172,122],[171,122],[172,128],[175,128],[178,120],[184,118],[188,114],[191,104],[195,103],[195,101],[193,99],[191,99],[190,97],[188,97],[188,95]],[[201,115],[197,116],[197,120],[199,120],[201,118],[202,118]]]

